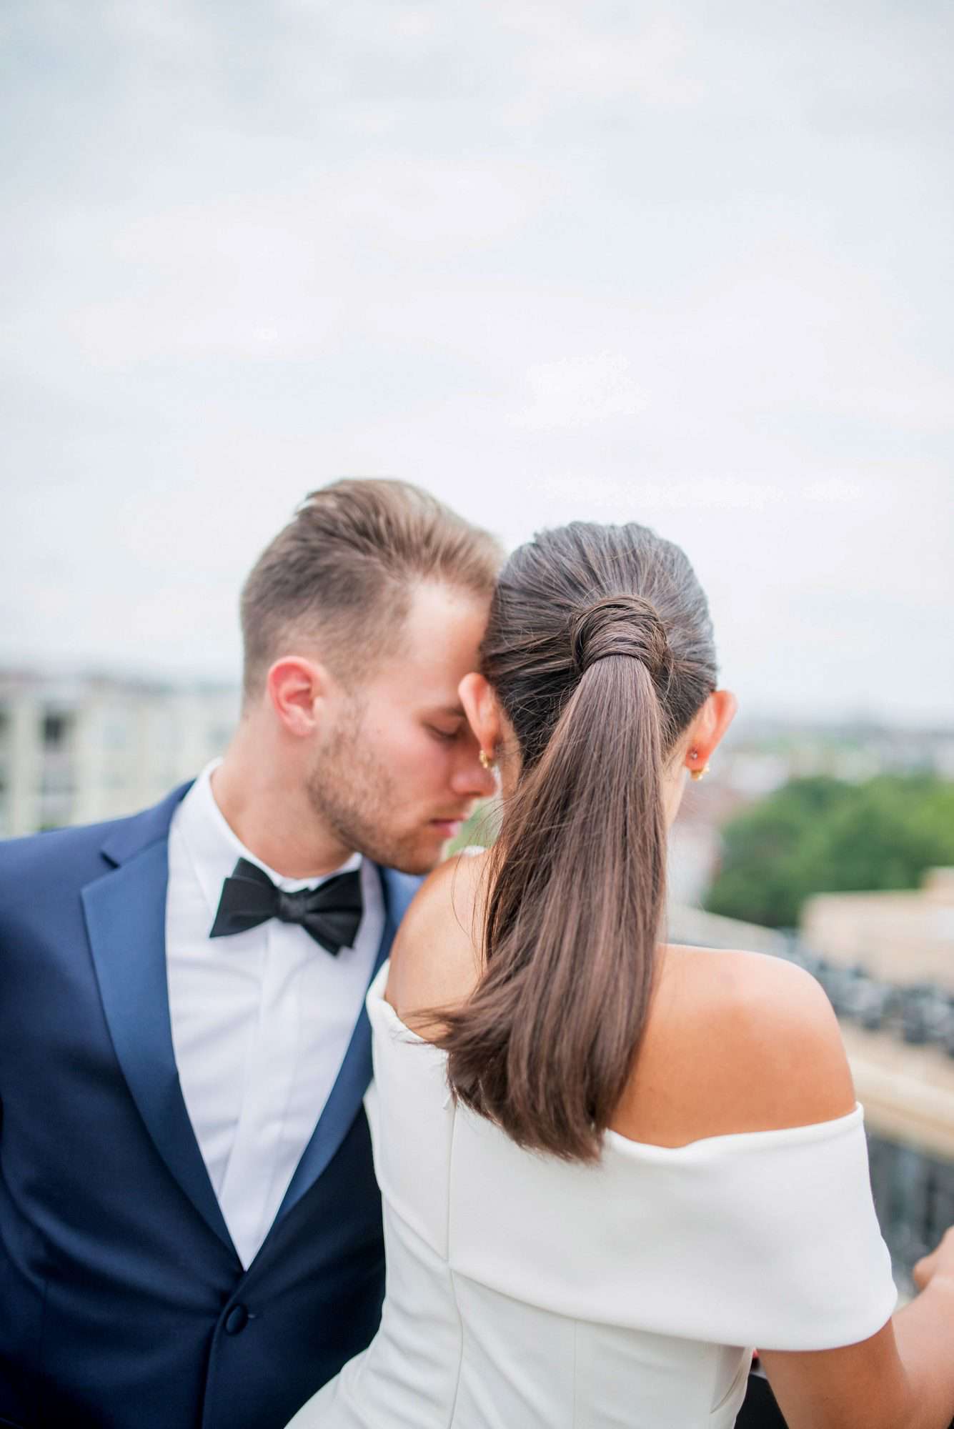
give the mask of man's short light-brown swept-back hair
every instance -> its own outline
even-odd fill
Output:
[[[490,596],[503,549],[408,482],[347,479],[304,499],[241,590],[243,693],[301,640],[341,679],[360,679],[400,640],[414,586]]]

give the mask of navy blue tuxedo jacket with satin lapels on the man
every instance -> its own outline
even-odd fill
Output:
[[[243,1270],[183,1100],[169,823],[0,843],[0,1425],[280,1429],[363,1349],[384,1289],[356,1026]],[[381,869],[388,953],[417,879]]]

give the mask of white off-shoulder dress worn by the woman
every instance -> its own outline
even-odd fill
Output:
[[[861,1107],[598,1165],[457,1106],[370,987],[387,1293],[294,1429],[730,1429],[751,1348],[851,1345],[895,1303]]]

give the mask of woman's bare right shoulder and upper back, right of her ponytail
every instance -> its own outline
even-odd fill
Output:
[[[824,989],[764,953],[668,946],[614,1129],[684,1146],[833,1120],[854,1086]]]

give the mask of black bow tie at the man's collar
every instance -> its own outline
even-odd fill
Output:
[[[210,937],[244,933],[277,917],[300,923],[328,953],[351,947],[361,922],[361,873],[336,873],[317,889],[286,893],[274,886],[264,869],[239,859],[221,886],[221,899]]]

